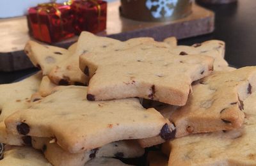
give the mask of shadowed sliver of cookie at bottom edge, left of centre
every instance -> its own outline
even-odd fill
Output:
[[[128,164],[121,162],[118,159],[115,158],[94,158],[90,162],[84,164],[84,166],[109,166],[109,165],[115,165],[115,166],[128,166]]]

